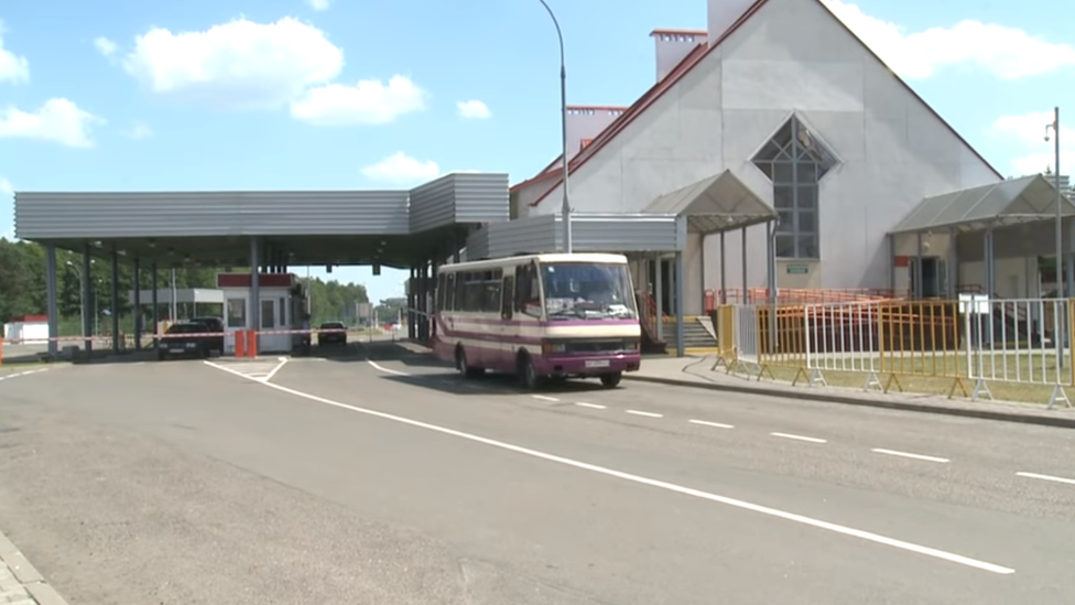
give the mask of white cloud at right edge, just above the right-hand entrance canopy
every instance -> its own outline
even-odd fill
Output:
[[[1024,114],[1022,116],[1005,116],[998,118],[990,127],[990,133],[1010,143],[1014,156],[1011,160],[1013,176],[1053,170],[1056,164],[1055,133],[1049,129],[1049,142],[1045,141],[1045,125],[1053,123],[1052,111]],[[1063,120],[1060,129],[1060,170],[1063,174],[1075,174],[1075,129],[1065,127]]]

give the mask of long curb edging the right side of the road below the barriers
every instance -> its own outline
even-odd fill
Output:
[[[716,382],[694,382],[691,380],[680,380],[676,378],[658,378],[652,376],[629,376],[623,375],[625,380],[637,380],[639,382],[652,382],[656,385],[669,385],[674,387],[687,387],[710,391],[739,392],[745,395],[760,395],[765,397],[780,397],[783,399],[803,399],[806,401],[819,401],[823,403],[844,403],[847,406],[860,406],[864,408],[887,408],[890,410],[901,410],[908,412],[924,412],[941,415],[957,415],[963,418],[978,418],[984,420],[1000,420],[1006,422],[1018,422],[1021,424],[1038,424],[1041,426],[1054,426],[1060,429],[1075,429],[1075,418],[1047,417],[1022,414],[1018,412],[1001,412],[995,410],[975,410],[960,408],[943,408],[940,406],[926,406],[912,403],[910,401],[882,401],[870,400],[857,397],[848,397],[837,393],[818,393],[803,390],[800,392],[788,392],[781,389],[765,387],[740,387],[736,385],[718,385]]]

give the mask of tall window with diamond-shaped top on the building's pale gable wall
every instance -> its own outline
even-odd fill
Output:
[[[777,258],[821,258],[817,183],[836,158],[792,117],[753,159],[773,184]]]

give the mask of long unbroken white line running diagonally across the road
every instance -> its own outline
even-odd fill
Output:
[[[734,507],[734,508],[739,508],[739,509],[742,509],[742,510],[749,510],[751,512],[758,512],[760,515],[765,515],[768,517],[774,517],[774,518],[778,518],[778,519],[784,519],[785,521],[792,521],[792,522],[800,523],[800,525],[811,526],[811,527],[814,527],[814,528],[817,528],[817,529],[823,529],[823,530],[826,530],[826,531],[832,531],[834,533],[839,533],[839,534],[843,534],[843,536],[849,536],[851,538],[858,538],[860,540],[866,540],[868,542],[873,542],[876,544],[882,544],[882,545],[891,547],[891,548],[894,548],[894,549],[903,550],[903,551],[906,551],[906,552],[913,552],[913,553],[922,554],[922,555],[925,555],[925,557],[932,557],[934,559],[940,559],[940,560],[943,560],[943,561],[948,561],[951,563],[957,563],[957,564],[960,564],[960,565],[967,565],[969,568],[975,568],[975,569],[982,570],[982,571],[988,571],[988,572],[991,572],[991,573],[998,573],[998,574],[1011,574],[1011,573],[1016,573],[1016,570],[1013,570],[1011,568],[1005,568],[1002,565],[997,565],[995,563],[988,563],[986,561],[980,561],[980,560],[977,560],[977,559],[971,559],[969,557],[963,557],[962,554],[955,554],[955,553],[952,553],[952,552],[947,552],[947,551],[943,551],[943,550],[938,550],[938,549],[934,549],[934,548],[930,548],[930,547],[924,547],[924,545],[921,545],[921,544],[914,544],[912,542],[904,542],[902,540],[897,540],[894,538],[888,538],[886,536],[881,536],[881,534],[878,534],[878,533],[872,533],[872,532],[869,532],[869,531],[864,531],[864,530],[860,530],[860,529],[855,529],[855,528],[850,528],[850,527],[841,526],[841,525],[837,525],[837,523],[830,523],[828,521],[823,521],[821,519],[814,519],[812,517],[806,517],[806,516],[803,516],[803,515],[796,515],[794,512],[788,512],[788,511],[780,510],[780,509],[777,509],[777,508],[770,508],[770,507],[767,507],[767,506],[757,505],[757,504],[748,503],[748,501],[745,501],[745,500],[738,500],[738,499],[735,499],[735,498],[729,498],[727,496],[719,496],[717,494],[713,494],[713,493],[709,493],[709,491],[703,491],[701,489],[694,489],[692,487],[684,487],[682,485],[676,485],[676,484],[669,483],[669,482],[662,482],[662,480],[659,480],[659,479],[651,479],[651,478],[648,478],[648,477],[643,477],[641,475],[633,475],[633,474],[630,474],[630,473],[625,473],[622,471],[615,471],[612,468],[607,468],[607,467],[604,467],[604,466],[598,466],[596,464],[590,464],[590,463],[587,463],[587,462],[580,462],[580,461],[576,461],[576,460],[563,457],[563,456],[557,456],[555,454],[546,454],[545,452],[540,452],[538,450],[531,450],[529,447],[523,447],[521,445],[512,445],[510,443],[506,443],[506,442],[502,442],[502,441],[497,441],[497,440],[492,440],[492,439],[489,439],[489,437],[484,437],[484,436],[479,436],[479,435],[475,435],[475,434],[470,434],[470,433],[465,433],[463,431],[457,431],[455,429],[448,429],[446,426],[438,426],[436,424],[430,424],[428,422],[422,422],[420,420],[412,420],[410,418],[404,418],[404,417],[401,417],[401,415],[390,414],[390,413],[387,413],[387,412],[379,412],[377,410],[370,410],[370,409],[366,409],[366,408],[359,408],[357,406],[350,406],[350,404],[347,404],[347,403],[340,403],[339,401],[333,401],[332,399],[325,399],[324,397],[318,397],[316,395],[312,395],[312,393],[308,393],[308,392],[298,391],[298,390],[291,389],[291,388],[287,388],[287,387],[281,386],[281,385],[274,385],[272,382],[262,382],[260,380],[258,380],[258,382],[261,383],[261,385],[264,385],[265,387],[269,387],[271,389],[275,389],[275,390],[278,390],[280,392],[286,392],[289,395],[293,395],[295,397],[298,397],[298,398],[302,398],[302,399],[306,399],[308,401],[314,401],[314,402],[317,402],[317,403],[323,403],[325,406],[330,406],[333,408],[338,408],[338,409],[341,409],[341,410],[348,410],[348,411],[351,411],[351,412],[357,412],[357,413],[365,414],[365,415],[380,418],[380,419],[383,419],[383,420],[390,420],[392,422],[398,422],[400,424],[406,424],[409,426],[415,426],[417,429],[424,429],[426,431],[433,431],[433,432],[436,432],[436,433],[441,433],[441,434],[445,434],[445,435],[450,435],[450,436],[459,437],[459,439],[463,439],[463,440],[466,440],[466,441],[471,441],[471,442],[475,442],[475,443],[481,443],[484,445],[489,445],[491,447],[497,447],[497,449],[500,449],[500,450],[506,450],[506,451],[509,451],[509,452],[514,452],[517,454],[522,454],[522,455],[525,455],[525,456],[531,456],[531,457],[544,460],[544,461],[547,461],[547,462],[553,462],[553,463],[561,464],[561,465],[564,465],[564,466],[571,466],[573,468],[579,468],[582,471],[589,471],[590,473],[596,473],[598,475],[605,475],[605,476],[608,476],[608,477],[616,477],[618,479],[622,479],[622,480],[636,483],[636,484],[639,484],[639,485],[647,485],[647,486],[650,486],[650,487],[655,487],[658,489],[664,489],[666,491],[672,491],[672,493],[681,494],[681,495],[684,495],[684,496],[691,496],[691,497],[694,497],[694,498],[699,498],[699,499],[708,500],[708,501],[712,501],[712,503],[723,504],[723,505],[730,506],[730,507]]]

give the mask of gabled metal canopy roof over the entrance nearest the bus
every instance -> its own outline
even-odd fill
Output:
[[[728,231],[777,218],[772,206],[730,170],[666,193],[644,212],[685,216],[687,230],[695,234]]]

